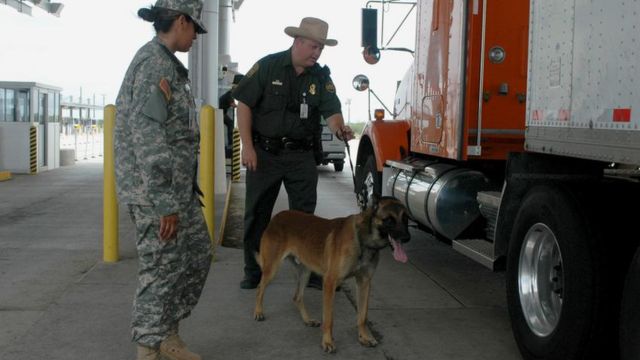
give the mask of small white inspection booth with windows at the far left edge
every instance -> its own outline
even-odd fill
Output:
[[[35,174],[60,166],[61,91],[0,81],[0,171]]]

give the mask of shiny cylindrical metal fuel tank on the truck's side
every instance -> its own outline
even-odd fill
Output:
[[[476,196],[488,189],[479,171],[445,163],[387,161],[383,194],[402,201],[414,220],[454,240],[480,216]]]

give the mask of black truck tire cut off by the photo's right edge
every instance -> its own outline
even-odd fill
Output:
[[[640,248],[636,250],[622,295],[620,311],[620,353],[622,360],[637,360],[640,355]]]

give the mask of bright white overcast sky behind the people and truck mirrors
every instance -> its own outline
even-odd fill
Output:
[[[65,7],[60,18],[38,8],[33,16],[0,5],[0,80],[33,81],[62,87],[75,98],[96,95],[102,102],[115,100],[120,83],[136,50],[154,33],[150,23],[136,15],[152,0],[59,0]],[[338,40],[326,47],[319,62],[331,68],[338,96],[345,105],[351,99],[351,120],[367,118],[367,95],[353,90],[357,74],[371,79],[372,89],[388,107],[393,106],[396,81],[412,61],[405,52],[385,51],[377,65],[362,59],[360,12],[364,0],[245,0],[231,28],[230,55],[238,69],[246,72],[255,61],[272,52],[287,49],[292,39],[286,26],[298,26],[305,16],[329,23],[329,37]],[[392,6],[385,13],[388,39],[404,17],[408,6]],[[415,10],[389,46],[413,49]],[[378,15],[381,17],[381,14]],[[386,42],[386,40],[385,40]],[[186,56],[181,56],[186,65]],[[372,98],[372,108],[380,107]]]

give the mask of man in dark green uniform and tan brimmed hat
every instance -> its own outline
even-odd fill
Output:
[[[352,130],[344,125],[329,69],[317,64],[324,46],[338,43],[327,39],[328,29],[326,22],[312,17],[302,19],[299,27],[285,28],[294,38],[291,48],[259,60],[233,91],[238,100],[242,160],[248,170],[243,289],[253,289],[260,282],[255,253],[281,184],[284,182],[289,208],[315,211],[316,154],[322,156],[320,117],[327,119],[337,136],[353,138]]]

